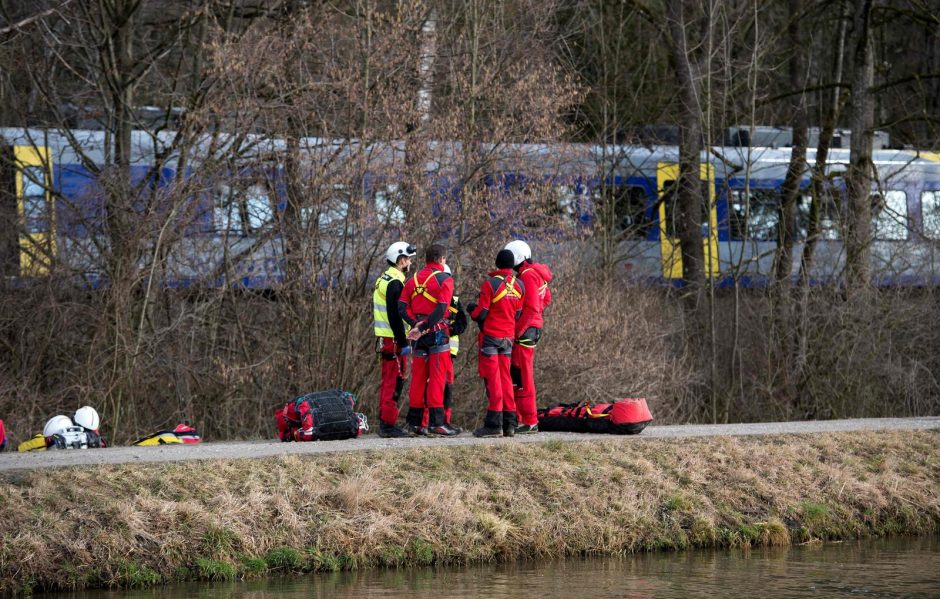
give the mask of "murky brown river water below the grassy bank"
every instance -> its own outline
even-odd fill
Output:
[[[337,572],[61,596],[275,597],[940,597],[940,538],[687,551],[460,568]]]

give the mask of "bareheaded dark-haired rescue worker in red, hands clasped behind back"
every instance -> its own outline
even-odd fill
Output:
[[[447,307],[454,295],[454,279],[444,272],[443,246],[433,244],[425,252],[426,264],[405,282],[398,313],[411,326],[411,387],[408,397],[408,433],[453,437],[458,431],[444,421],[444,386],[453,368],[447,334]],[[421,426],[424,409],[428,426]]]

